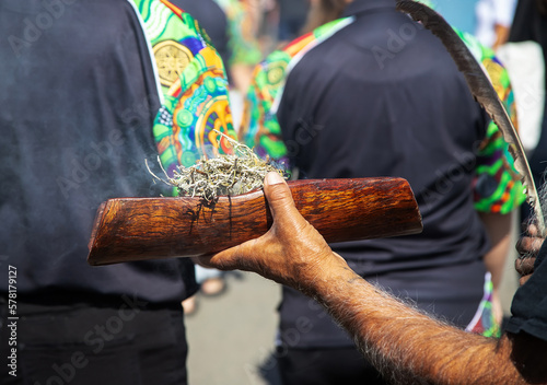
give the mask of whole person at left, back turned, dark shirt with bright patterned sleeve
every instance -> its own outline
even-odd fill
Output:
[[[103,201],[170,194],[147,159],[159,171],[160,152],[170,171],[182,150],[186,161],[203,150],[189,140],[208,138],[195,120],[216,118],[191,91],[207,82],[216,114],[229,110],[218,54],[165,0],[5,0],[0,68],[2,384],[186,384],[181,302],[197,290],[193,264],[92,268],[88,243]]]

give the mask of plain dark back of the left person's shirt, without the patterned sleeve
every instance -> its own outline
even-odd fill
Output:
[[[160,194],[144,165],[159,92],[138,16],[126,0],[46,4],[0,2],[1,270],[18,269],[20,298],[179,303],[195,290],[186,259],[86,264],[101,202]]]

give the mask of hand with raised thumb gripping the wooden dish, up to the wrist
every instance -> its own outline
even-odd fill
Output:
[[[198,264],[220,270],[254,271],[304,291],[326,276],[329,267],[347,267],[296,210],[289,186],[279,174],[266,175],[264,194],[274,218],[269,231],[216,255],[198,257]]]

